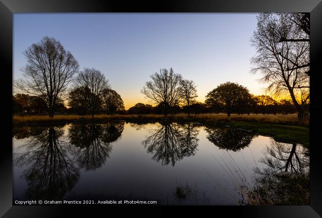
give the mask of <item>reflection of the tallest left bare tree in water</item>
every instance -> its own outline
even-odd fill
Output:
[[[31,128],[32,129],[32,128]],[[27,199],[61,199],[79,178],[79,170],[69,155],[69,146],[60,140],[63,130],[57,127],[36,128],[39,133],[29,136],[24,153],[14,154],[14,164],[28,165],[22,176],[28,183]]]

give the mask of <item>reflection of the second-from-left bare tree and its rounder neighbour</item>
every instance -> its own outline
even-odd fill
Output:
[[[70,144],[75,145],[74,156],[81,168],[100,168],[112,151],[112,142],[121,136],[124,123],[72,124],[69,128]]]

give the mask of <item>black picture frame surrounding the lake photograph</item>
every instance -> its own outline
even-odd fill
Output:
[[[0,60],[1,60],[1,143],[0,143],[0,216],[12,217],[65,217],[75,212],[83,215],[106,211],[95,206],[12,206],[12,55],[13,13],[39,12],[310,12],[310,206],[205,206],[188,207],[127,207],[119,213],[146,208],[164,213],[175,208],[183,212],[208,212],[225,217],[274,217],[318,218],[322,217],[322,158],[321,135],[322,107],[319,105],[322,63],[322,2],[321,0],[0,0]],[[4,128],[3,128],[4,127]],[[160,208],[162,210],[160,210]],[[115,209],[115,207],[114,207]],[[110,211],[110,209],[108,209]],[[108,212],[109,213],[109,212]],[[140,215],[140,214],[138,214]],[[161,215],[161,214],[160,214]],[[170,216],[170,214],[168,214]]]

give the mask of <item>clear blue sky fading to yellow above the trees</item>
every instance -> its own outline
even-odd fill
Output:
[[[226,81],[264,94],[250,73],[257,13],[15,13],[13,79],[23,78],[23,52],[44,36],[60,41],[80,70],[105,74],[125,109],[151,103],[140,90],[150,75],[173,68],[194,80],[198,101]]]

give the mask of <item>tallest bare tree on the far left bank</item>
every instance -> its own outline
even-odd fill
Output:
[[[32,44],[25,52],[27,65],[22,69],[25,79],[15,81],[15,87],[24,93],[44,98],[50,117],[64,94],[73,75],[78,72],[78,63],[59,41],[45,36]]]

